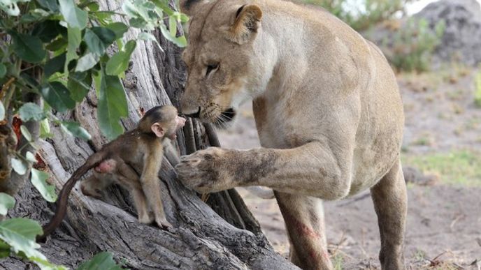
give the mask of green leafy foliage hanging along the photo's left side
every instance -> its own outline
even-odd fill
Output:
[[[116,21],[116,18],[122,21]],[[36,163],[36,137],[48,138],[50,123],[61,126],[69,135],[82,140],[91,136],[80,123],[62,121],[58,113],[73,110],[94,87],[98,101],[99,128],[108,140],[124,132],[120,120],[128,116],[122,78],[138,42],[159,43],[150,33],[160,29],[172,43],[184,47],[187,40],[178,25],[188,17],[171,8],[167,0],[127,0],[121,10],[101,10],[90,0],[1,0],[0,1],[0,126],[12,127],[24,144],[8,151],[10,170],[20,176],[29,172],[31,183],[48,202],[55,202],[55,187],[47,183],[48,174],[31,169]],[[138,29],[134,39],[126,33]],[[114,54],[108,54],[115,47]],[[33,93],[43,102],[24,98]],[[15,127],[12,119],[20,122]],[[22,125],[39,123],[39,130]],[[17,130],[16,130],[17,129]],[[1,146],[0,146],[1,147]],[[29,147],[29,148],[27,148]],[[10,181],[10,179],[0,179]],[[14,194],[1,193],[0,217],[15,204]],[[65,269],[48,262],[38,251],[35,237],[41,226],[27,218],[0,222],[0,257],[10,254],[26,258],[41,269]],[[101,253],[89,265],[117,269],[110,253]],[[82,268],[83,267],[83,268]],[[120,269],[120,267],[118,267]]]

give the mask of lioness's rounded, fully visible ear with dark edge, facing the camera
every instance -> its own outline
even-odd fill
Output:
[[[236,20],[229,29],[229,38],[238,44],[252,40],[261,26],[262,10],[257,5],[244,5],[237,10]]]

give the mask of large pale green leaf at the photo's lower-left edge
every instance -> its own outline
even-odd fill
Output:
[[[0,222],[0,239],[8,243],[15,253],[22,252],[29,258],[46,260],[45,256],[36,250],[40,248],[40,245],[35,243],[39,234],[43,234],[43,230],[35,220],[10,218]]]

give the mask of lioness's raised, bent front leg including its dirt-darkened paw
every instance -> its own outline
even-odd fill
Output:
[[[183,156],[175,168],[185,186],[201,193],[266,186],[284,193],[337,200],[350,190],[352,166],[346,152],[333,154],[321,142],[294,149],[211,147]]]

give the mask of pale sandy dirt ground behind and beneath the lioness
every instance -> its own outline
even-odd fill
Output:
[[[403,156],[481,151],[481,109],[474,103],[474,74],[450,66],[436,73],[398,76],[406,114]],[[250,105],[219,136],[223,147],[259,147]],[[471,163],[481,167],[476,160]],[[408,267],[481,269],[481,178],[469,184],[452,184],[443,175],[436,179],[430,186],[408,185]],[[289,243],[277,202],[238,190],[275,250],[287,257]],[[368,191],[325,202],[324,207],[326,237],[336,269],[380,269],[378,225]]]

